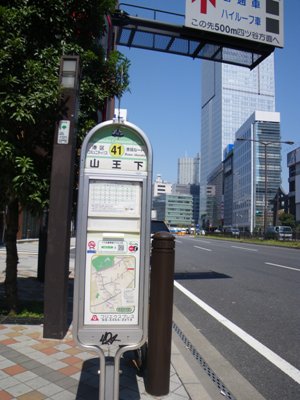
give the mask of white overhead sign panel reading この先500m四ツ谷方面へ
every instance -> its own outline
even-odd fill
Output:
[[[185,26],[254,42],[254,49],[283,47],[282,17],[283,1],[187,0]]]

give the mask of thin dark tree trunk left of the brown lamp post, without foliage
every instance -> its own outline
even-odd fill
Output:
[[[9,312],[16,313],[18,303],[18,250],[17,233],[19,230],[19,202],[13,199],[8,207],[6,214],[6,274],[5,274],[5,296]]]

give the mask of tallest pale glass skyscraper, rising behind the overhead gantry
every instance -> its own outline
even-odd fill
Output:
[[[200,216],[209,174],[223,161],[236,131],[254,111],[275,111],[274,55],[255,69],[202,62]]]

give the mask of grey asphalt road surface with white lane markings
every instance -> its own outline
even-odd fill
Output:
[[[266,399],[300,399],[300,251],[186,236],[175,254],[178,309]]]

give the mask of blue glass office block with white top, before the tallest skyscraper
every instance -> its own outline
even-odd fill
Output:
[[[273,224],[281,186],[280,114],[256,111],[236,133],[233,155],[232,226],[249,232]],[[277,142],[277,143],[272,143]]]

